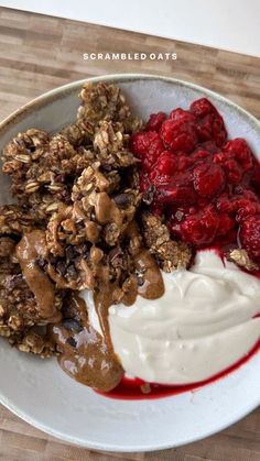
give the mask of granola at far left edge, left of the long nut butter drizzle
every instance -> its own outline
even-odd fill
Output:
[[[23,352],[45,358],[53,355],[55,348],[47,338],[46,321],[39,314],[15,252],[23,232],[30,232],[34,226],[23,208],[0,207],[0,336]],[[61,309],[61,292],[56,292],[55,305]]]

